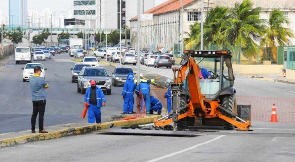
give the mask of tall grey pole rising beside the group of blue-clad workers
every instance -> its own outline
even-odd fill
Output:
[[[140,1],[137,0],[137,85],[140,83]]]

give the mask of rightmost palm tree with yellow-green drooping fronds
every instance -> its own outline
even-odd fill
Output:
[[[261,41],[261,47],[269,47],[274,60],[277,60],[277,44],[287,45],[289,38],[294,38],[294,33],[290,28],[284,28],[283,25],[290,25],[287,17],[279,10],[270,12],[266,34]]]

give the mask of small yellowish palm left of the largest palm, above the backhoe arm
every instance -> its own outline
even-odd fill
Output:
[[[184,32],[189,36],[189,38],[184,39],[186,49],[197,49],[201,44],[201,25],[199,22],[189,26],[190,32]]]

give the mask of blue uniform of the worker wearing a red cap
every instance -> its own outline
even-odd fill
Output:
[[[102,102],[106,102],[106,98],[104,97],[104,94],[100,88],[96,86],[96,102],[97,104],[91,104],[90,103],[90,91],[91,87],[87,88],[85,96],[84,96],[84,102],[87,102],[89,104],[88,106],[88,123],[101,123],[101,112],[100,107],[102,107]]]

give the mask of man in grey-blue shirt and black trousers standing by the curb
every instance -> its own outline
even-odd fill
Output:
[[[33,114],[31,118],[32,133],[36,133],[36,119],[39,114],[39,133],[48,133],[43,128],[44,113],[47,94],[45,89],[49,88],[49,85],[40,77],[42,73],[40,66],[34,67],[34,75],[30,78],[30,86],[32,93],[32,102],[33,102]]]

